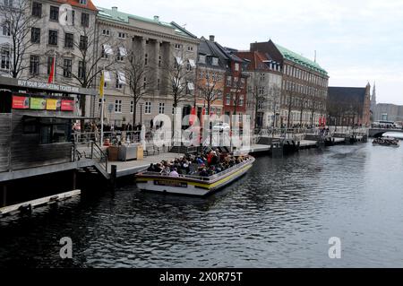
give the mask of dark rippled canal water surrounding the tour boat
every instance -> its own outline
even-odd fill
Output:
[[[0,219],[0,233],[1,267],[403,267],[403,148],[259,158],[206,199],[125,186]],[[341,259],[329,257],[332,237]]]

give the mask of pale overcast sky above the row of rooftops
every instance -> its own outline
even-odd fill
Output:
[[[198,37],[248,49],[272,39],[314,57],[331,86],[376,81],[378,102],[403,104],[403,0],[93,0],[94,4],[185,25]]]

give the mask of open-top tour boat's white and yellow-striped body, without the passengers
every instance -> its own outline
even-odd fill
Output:
[[[159,192],[176,195],[210,195],[224,186],[241,178],[252,168],[255,159],[244,157],[244,161],[211,177],[181,175],[178,178],[149,171],[136,175],[136,183],[142,191]]]

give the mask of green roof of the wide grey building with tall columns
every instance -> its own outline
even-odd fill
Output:
[[[186,32],[186,30],[179,28],[176,24],[174,25],[173,23],[169,22],[160,22],[159,20],[155,19],[148,19],[144,17],[140,17],[137,15],[133,15],[130,13],[123,13],[118,11],[117,9],[107,9],[107,8],[102,8],[102,7],[97,7],[99,10],[98,16],[100,19],[107,20],[107,21],[113,21],[113,22],[120,22],[120,23],[129,23],[129,18],[141,22],[149,22],[153,23],[159,26],[167,27],[167,28],[172,28],[175,30],[177,35],[184,36],[184,37],[190,37],[194,38],[193,35],[189,32]]]

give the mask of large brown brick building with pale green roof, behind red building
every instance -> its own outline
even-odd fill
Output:
[[[268,42],[252,43],[258,51],[281,65],[281,126],[315,126],[326,114],[328,73],[315,61]]]

